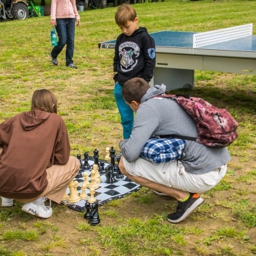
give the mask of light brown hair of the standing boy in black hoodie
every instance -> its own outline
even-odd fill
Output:
[[[123,4],[116,12],[115,20],[117,26],[125,26],[127,22],[134,21],[137,18],[137,13],[131,5]]]

